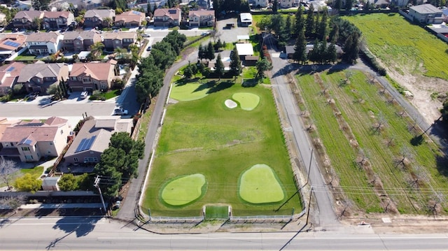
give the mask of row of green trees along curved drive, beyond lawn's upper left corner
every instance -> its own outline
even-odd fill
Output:
[[[143,103],[146,99],[159,93],[163,85],[165,69],[172,66],[176,57],[181,53],[186,40],[185,35],[178,31],[171,31],[162,41],[153,45],[148,57],[141,59],[135,84],[139,103]]]

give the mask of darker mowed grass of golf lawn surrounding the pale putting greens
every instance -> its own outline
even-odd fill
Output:
[[[200,216],[202,206],[214,204],[232,206],[233,215],[288,215],[293,208],[300,210],[300,198],[293,196],[297,189],[271,89],[233,83],[209,88],[214,91],[202,99],[168,106],[143,207],[159,216]],[[259,96],[260,103],[251,111],[227,108],[225,100],[239,92]],[[253,204],[239,197],[239,178],[255,164],[274,170],[285,192],[283,200]],[[160,189],[169,180],[194,173],[204,175],[207,182],[202,198],[180,207],[163,203]],[[293,199],[274,212],[290,196]]]

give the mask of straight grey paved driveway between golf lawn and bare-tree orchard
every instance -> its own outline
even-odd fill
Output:
[[[302,164],[309,168],[309,182],[311,186],[314,187],[314,195],[316,197],[317,211],[311,212],[313,217],[311,217],[311,222],[314,225],[323,227],[325,229],[331,227],[339,227],[339,222],[337,222],[337,217],[332,208],[333,201],[328,191],[325,181],[318,169],[318,163],[314,158],[311,159],[311,140],[304,129],[302,120],[300,119],[300,110],[297,107],[297,101],[288,86],[288,81],[285,78],[286,73],[289,69],[289,64],[286,59],[280,57],[274,57],[273,55],[278,55],[278,51],[275,50],[273,45],[273,40],[265,38],[265,43],[269,48],[269,53],[272,58],[272,87],[274,88],[275,101],[278,103],[280,112],[286,114],[288,120],[287,128],[288,131],[293,132],[294,143],[300,152],[300,157],[302,159]],[[311,162],[310,162],[311,159]],[[308,200],[308,199],[307,199]]]

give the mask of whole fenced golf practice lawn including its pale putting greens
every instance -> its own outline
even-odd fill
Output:
[[[299,212],[269,85],[242,87],[241,78],[174,80],[144,211],[200,216],[207,205],[231,206],[237,216]],[[235,108],[226,106],[228,100]],[[182,196],[179,187],[185,186],[191,190]]]

